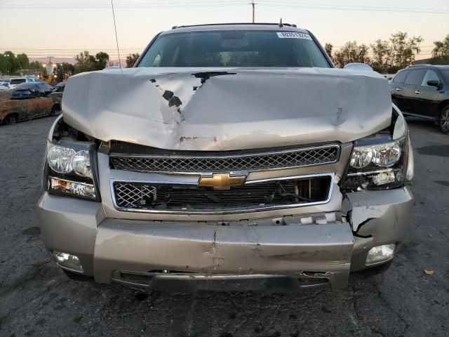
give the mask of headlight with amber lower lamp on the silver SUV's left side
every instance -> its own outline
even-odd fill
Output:
[[[61,138],[47,143],[44,187],[53,194],[98,199],[95,143]]]

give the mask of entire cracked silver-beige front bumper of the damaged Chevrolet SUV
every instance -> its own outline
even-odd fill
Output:
[[[292,217],[283,225],[212,225],[106,218],[102,204],[44,193],[39,217],[47,248],[78,256],[96,282],[177,291],[329,282],[338,289],[350,271],[366,267],[370,248],[403,241],[412,200],[406,187],[356,192],[341,218],[321,224]]]

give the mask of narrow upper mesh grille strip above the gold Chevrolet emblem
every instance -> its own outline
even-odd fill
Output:
[[[339,157],[340,147],[338,145],[327,145],[276,152],[226,154],[221,156],[214,154],[208,156],[170,154],[128,156],[112,154],[110,164],[114,169],[126,171],[220,173],[331,164],[337,162]]]

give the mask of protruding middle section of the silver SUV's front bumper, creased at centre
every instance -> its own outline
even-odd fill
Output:
[[[106,219],[97,232],[95,281],[116,270],[175,270],[198,275],[318,273],[339,289],[347,284],[354,240],[349,223],[220,226]]]

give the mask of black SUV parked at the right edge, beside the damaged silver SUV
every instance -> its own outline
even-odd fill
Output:
[[[411,65],[390,86],[391,100],[404,115],[433,119],[449,132],[449,65]]]

